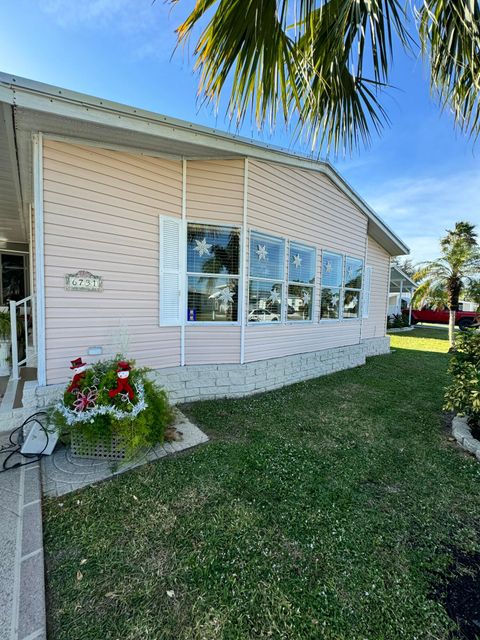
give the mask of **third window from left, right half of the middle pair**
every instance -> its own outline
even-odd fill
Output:
[[[290,243],[288,258],[287,320],[313,319],[315,249]]]

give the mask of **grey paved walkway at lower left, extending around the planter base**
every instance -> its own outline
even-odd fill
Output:
[[[208,441],[179,411],[175,427],[183,434],[181,441],[152,448],[119,469],[104,460],[72,458],[68,449],[59,446],[42,459],[44,493],[59,496],[76,491]],[[1,453],[6,444],[7,435],[0,434],[0,470],[8,455]],[[25,461],[16,456],[10,462]],[[0,472],[0,640],[46,638],[40,465],[33,463]]]

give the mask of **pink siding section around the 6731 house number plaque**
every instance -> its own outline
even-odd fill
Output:
[[[63,382],[71,358],[101,345],[152,367],[180,363],[180,329],[158,326],[158,216],[181,215],[179,161],[46,141],[44,150],[47,382]],[[66,292],[87,269],[103,293]]]

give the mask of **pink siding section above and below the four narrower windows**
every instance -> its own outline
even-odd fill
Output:
[[[247,325],[245,360],[261,360],[357,344],[360,320],[321,322],[320,252],[364,258],[367,219],[324,176],[278,164],[249,162],[248,225],[317,249],[315,321],[280,326]]]

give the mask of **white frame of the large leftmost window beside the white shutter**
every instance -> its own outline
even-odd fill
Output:
[[[198,272],[194,272],[194,271],[188,271],[188,265],[187,265],[187,250],[188,250],[188,225],[189,224],[198,224],[198,225],[205,225],[205,226],[209,226],[209,227],[223,227],[223,228],[227,228],[227,229],[238,229],[238,231],[240,231],[240,238],[239,238],[239,248],[240,248],[240,252],[239,252],[239,273],[238,275],[230,275],[228,273],[225,274],[218,274],[218,273],[198,273]],[[243,306],[243,296],[241,295],[241,281],[242,281],[242,273],[241,273],[241,269],[242,269],[242,263],[243,263],[243,242],[242,242],[242,237],[243,237],[243,225],[241,224],[235,224],[232,222],[227,222],[227,223],[223,223],[223,222],[219,222],[218,220],[212,221],[212,220],[207,220],[207,219],[186,219],[185,220],[185,228],[183,230],[183,242],[182,242],[182,246],[183,246],[183,250],[184,250],[184,266],[185,266],[185,270],[184,270],[184,278],[183,278],[183,283],[184,283],[184,291],[185,291],[185,295],[184,295],[184,308],[183,308],[183,318],[184,318],[184,323],[186,327],[239,327],[241,325],[241,319],[242,319],[242,314],[243,314],[243,310],[244,310],[244,306]],[[238,285],[237,285],[237,299],[238,299],[238,312],[237,312],[237,320],[221,320],[221,321],[216,321],[216,320],[189,320],[188,319],[188,277],[189,276],[206,276],[206,277],[211,277],[211,278],[225,278],[227,280],[237,280]]]

